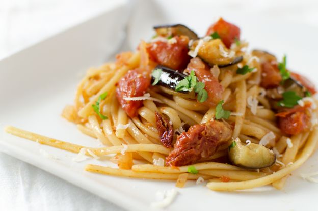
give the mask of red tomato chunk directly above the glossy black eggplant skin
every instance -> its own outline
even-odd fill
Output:
[[[174,36],[175,42],[156,41],[148,43],[150,59],[171,69],[183,71],[190,61],[187,36]]]

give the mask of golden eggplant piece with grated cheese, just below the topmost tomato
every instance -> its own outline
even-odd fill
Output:
[[[200,42],[201,44],[199,44]],[[218,65],[223,68],[237,64],[243,60],[243,56],[231,56],[231,52],[225,47],[220,39],[213,39],[205,42],[202,39],[196,40],[190,46],[190,50],[195,51],[197,45],[200,45],[198,57],[210,66]],[[220,50],[220,48],[223,49]]]

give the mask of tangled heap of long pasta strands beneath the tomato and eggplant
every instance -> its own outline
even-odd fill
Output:
[[[222,109],[230,112],[228,118],[219,121],[232,126],[232,138],[208,159],[185,166],[167,166],[165,160],[173,147],[168,148],[161,142],[155,112],[169,119],[175,143],[178,136],[187,131],[187,127],[216,121],[216,106],[201,103],[189,94],[150,85],[139,99],[131,99],[141,101],[142,105],[135,117],[129,117],[116,98],[116,87],[129,70],[152,62],[143,45],[144,42],[136,52],[119,54],[116,62],[90,68],[77,87],[74,104],[63,110],[64,118],[77,124],[82,133],[100,141],[103,147],[76,145],[12,126],[8,126],[6,131],[40,144],[73,153],[83,152],[97,159],[109,159],[112,156],[110,160],[118,164],[118,168],[89,164],[85,167],[86,171],[113,176],[171,179],[177,181],[177,187],[183,187],[187,180],[207,180],[206,186],[216,191],[265,185],[281,189],[290,173],[299,168],[318,147],[318,130],[314,125],[310,130],[296,135],[287,135],[280,130],[276,113],[267,98],[267,90],[260,86],[262,73],[259,52],[247,52],[248,43],[240,41],[232,44],[228,50],[242,56],[242,61],[217,67],[217,71],[214,68],[214,76],[224,89]],[[254,68],[254,71],[237,74],[237,69],[245,65]],[[310,98],[315,104],[316,100]],[[312,107],[312,113],[316,112],[317,109]],[[267,141],[264,145],[274,151],[275,164],[260,169],[231,164],[227,157],[233,140],[243,145]],[[134,164],[137,161],[139,164]]]

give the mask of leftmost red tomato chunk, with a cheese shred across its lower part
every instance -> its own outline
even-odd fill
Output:
[[[150,79],[148,71],[137,68],[129,70],[119,80],[116,88],[116,97],[129,117],[133,118],[137,115],[137,110],[142,106],[142,101],[124,100],[123,98],[143,96],[150,86]]]

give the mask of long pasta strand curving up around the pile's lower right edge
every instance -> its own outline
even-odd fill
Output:
[[[250,188],[255,188],[255,187],[271,184],[275,182],[276,180],[281,179],[282,177],[286,176],[290,172],[299,168],[314,152],[314,146],[316,146],[317,142],[318,142],[318,129],[315,128],[311,132],[310,137],[300,157],[298,158],[298,160],[294,162],[294,164],[289,165],[286,168],[283,168],[275,172],[274,174],[267,175],[258,179],[252,179],[252,180],[243,181],[243,182],[228,182],[228,183],[209,182],[206,186],[209,189],[215,190],[215,191],[235,191],[235,190],[250,189]]]

